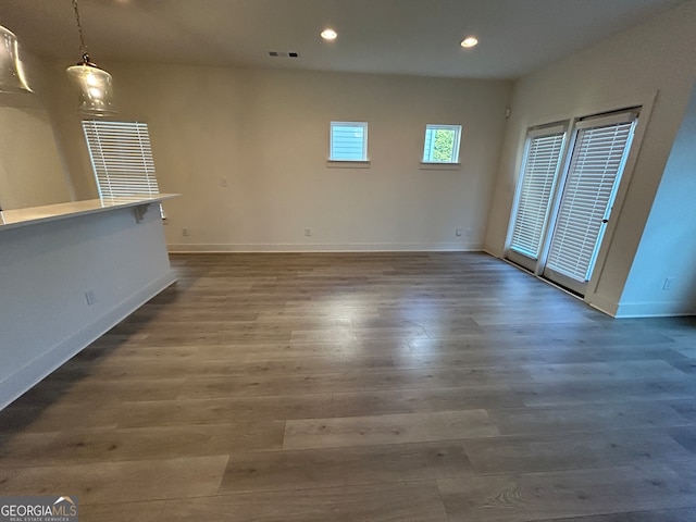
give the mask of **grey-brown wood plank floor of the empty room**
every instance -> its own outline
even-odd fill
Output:
[[[0,412],[0,495],[80,521],[696,520],[696,319],[482,253],[173,256]]]

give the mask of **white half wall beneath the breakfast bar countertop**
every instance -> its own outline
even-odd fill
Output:
[[[0,226],[0,409],[173,281],[157,211]]]

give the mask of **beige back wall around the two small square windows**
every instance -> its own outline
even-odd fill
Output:
[[[483,245],[507,82],[104,66],[114,77],[120,116],[150,126],[162,191],[183,195],[165,204],[171,250]],[[94,183],[86,152],[75,145],[80,135],[71,96],[64,86],[54,92],[67,111],[54,107],[53,117],[76,191],[89,198]],[[370,169],[326,166],[332,120],[369,122]],[[419,169],[427,123],[462,124],[461,170]]]

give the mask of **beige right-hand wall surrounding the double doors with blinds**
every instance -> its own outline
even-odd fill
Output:
[[[527,127],[635,103],[649,104],[659,91],[649,122],[644,117],[641,123],[645,128],[642,148],[635,151],[634,169],[624,173],[624,181],[630,183],[620,189],[585,297],[592,304],[617,313],[696,76],[694,20],[696,1],[691,0],[517,83],[489,213],[487,251],[496,256],[504,252]],[[673,275],[667,261],[657,263],[654,270],[654,285]]]

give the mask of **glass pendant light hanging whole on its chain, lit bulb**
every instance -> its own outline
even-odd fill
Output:
[[[75,21],[79,33],[79,50],[83,61],[67,67],[67,75],[79,89],[79,110],[91,116],[114,114],[111,97],[113,96],[111,75],[89,61],[83,25],[79,21],[77,0],[73,0]]]

